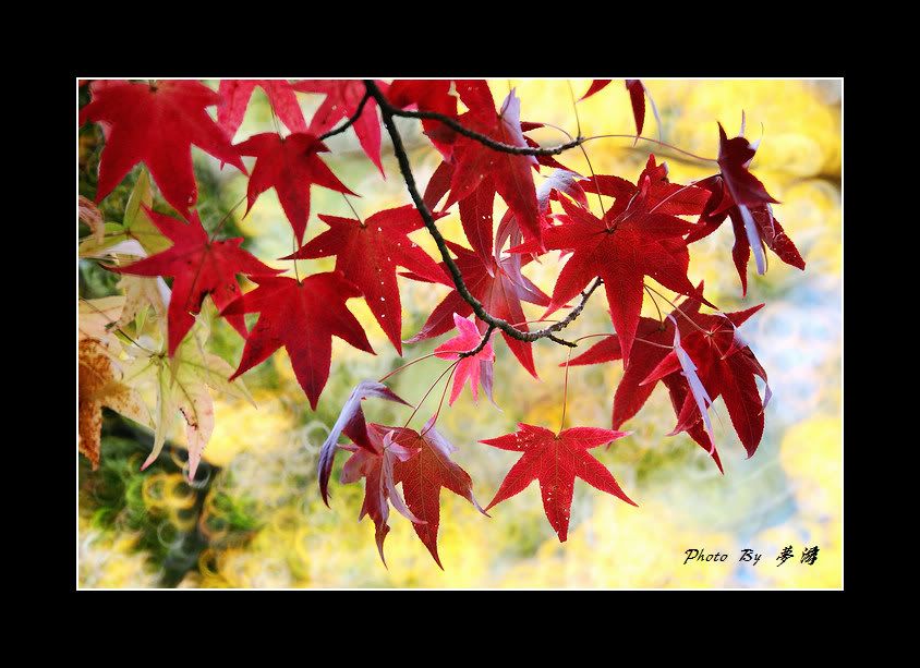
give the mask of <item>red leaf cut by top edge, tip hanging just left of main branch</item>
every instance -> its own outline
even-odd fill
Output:
[[[386,95],[389,86],[382,81],[374,81],[377,88]],[[319,109],[313,114],[308,132],[320,135],[331,130],[341,119],[351,118],[367,92],[361,81],[304,80],[292,84],[294,90],[322,93],[326,96]],[[384,173],[380,162],[380,122],[377,120],[377,101],[370,97],[364,102],[361,117],[352,124],[361,148],[371,161]]]

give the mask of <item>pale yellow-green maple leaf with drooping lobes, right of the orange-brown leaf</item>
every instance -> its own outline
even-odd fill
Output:
[[[243,381],[229,378],[233,367],[205,350],[207,338],[208,330],[202,325],[181,342],[171,359],[140,345],[131,349],[135,360],[124,372],[124,382],[131,387],[153,388],[157,397],[154,448],[141,465],[142,471],[159,457],[167,436],[181,416],[189,449],[187,477],[195,479],[205,446],[214,432],[214,400],[208,388],[246,399],[255,405]]]

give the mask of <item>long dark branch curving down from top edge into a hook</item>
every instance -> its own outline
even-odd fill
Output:
[[[584,308],[585,303],[588,302],[591,294],[597,289],[598,286],[603,282],[600,278],[595,279],[594,282],[589,286],[589,288],[582,293],[581,302],[572,308],[572,311],[566,316],[565,319],[559,320],[555,325],[550,327],[546,327],[545,329],[540,329],[536,331],[521,331],[517,327],[515,327],[511,323],[503,320],[500,318],[494,317],[489,314],[482,303],[472,295],[469,288],[467,288],[465,282],[463,281],[463,275],[460,271],[460,268],[457,266],[457,263],[453,262],[453,258],[450,257],[450,251],[447,247],[447,242],[444,239],[444,235],[440,233],[440,230],[437,229],[435,224],[435,219],[432,216],[432,211],[425,205],[422,195],[419,193],[419,187],[415,185],[415,177],[412,174],[412,166],[409,163],[409,155],[405,153],[405,147],[402,144],[402,136],[399,134],[399,130],[396,126],[394,121],[394,108],[387,102],[386,98],[384,97],[380,89],[377,88],[377,85],[373,81],[365,81],[364,85],[367,88],[367,93],[377,100],[377,105],[380,107],[380,113],[384,119],[384,125],[387,129],[387,133],[390,135],[390,141],[392,142],[394,153],[396,154],[396,158],[399,161],[399,170],[402,172],[402,179],[405,182],[405,187],[409,191],[409,195],[412,197],[412,202],[415,204],[415,208],[419,210],[419,214],[422,216],[422,220],[425,223],[425,228],[428,230],[428,233],[435,240],[437,244],[438,251],[440,251],[440,256],[444,258],[444,264],[447,267],[447,270],[450,272],[451,278],[453,279],[453,286],[457,288],[457,293],[463,297],[473,309],[473,313],[480,318],[482,321],[486,323],[491,326],[492,329],[500,329],[506,335],[511,337],[512,339],[517,339],[518,341],[525,341],[532,342],[537,341],[540,339],[549,339],[560,345],[568,345],[569,348],[576,348],[576,344],[571,341],[566,341],[565,339],[560,339],[559,337],[555,336],[555,332],[560,331],[569,326],[582,312]],[[491,331],[487,333],[492,333]],[[487,338],[487,337],[486,337]],[[481,342],[479,349],[475,352],[482,350],[485,347],[485,342]],[[468,354],[474,354],[470,352]]]

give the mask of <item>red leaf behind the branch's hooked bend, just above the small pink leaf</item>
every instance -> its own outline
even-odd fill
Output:
[[[521,274],[521,266],[530,262],[529,258],[522,259],[519,255],[512,255],[496,260],[493,257],[489,264],[485,265],[480,255],[469,248],[464,248],[450,241],[447,242],[447,246],[457,256],[455,263],[460,269],[463,276],[463,282],[470,290],[470,293],[496,318],[500,318],[512,325],[523,324],[526,320],[526,316],[524,316],[523,308],[521,307],[522,301],[538,306],[546,306],[549,303],[549,297]],[[405,276],[414,280],[425,280],[414,274],[405,274]],[[452,282],[447,284],[453,288]],[[452,317],[455,313],[462,317],[467,317],[473,313],[472,306],[460,296],[456,288],[441,300],[432,312],[432,315],[428,316],[428,319],[422,326],[419,333],[409,339],[407,343],[415,343],[449,331],[455,326]],[[480,331],[485,331],[486,324],[477,320],[477,327]],[[520,325],[519,329],[526,330],[528,326]],[[521,363],[521,366],[536,378],[531,344],[526,341],[512,339],[504,331],[501,336],[505,338],[508,348],[511,349],[511,352],[515,353],[515,356]]]

